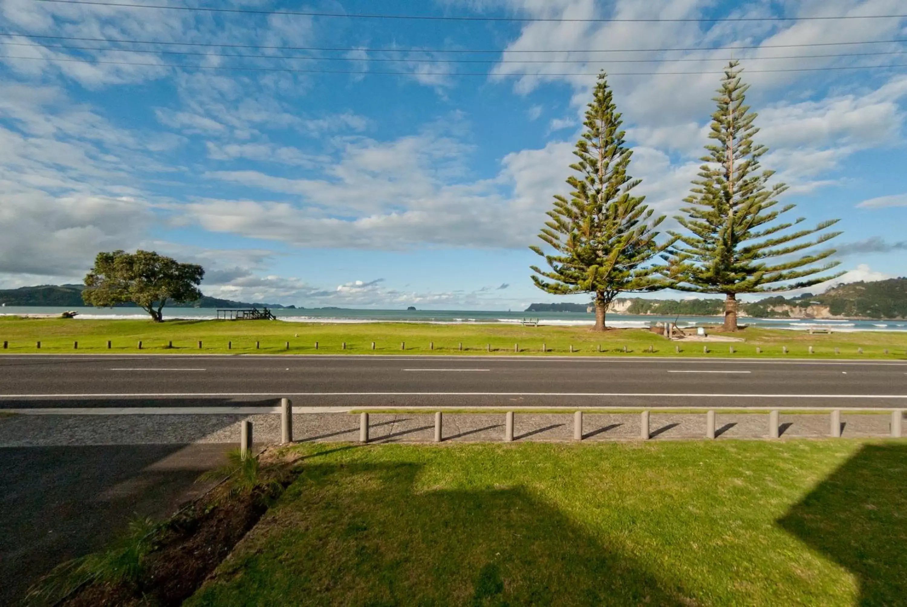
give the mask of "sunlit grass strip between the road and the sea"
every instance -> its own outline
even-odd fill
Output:
[[[669,357],[907,357],[907,333],[853,332],[809,335],[802,331],[747,328],[734,343],[669,342],[644,329],[604,334],[583,327],[427,325],[417,323],[322,324],[267,320],[66,320],[0,318],[0,354],[444,354]],[[37,342],[41,348],[37,348]],[[112,348],[107,348],[110,341]],[[141,350],[138,345],[141,341]],[[201,341],[202,348],[198,342]],[[78,348],[74,348],[78,342]],[[172,348],[170,344],[172,342]],[[256,345],[258,342],[258,347]],[[289,348],[287,343],[289,342]],[[315,343],[318,343],[316,349]],[[375,342],[375,349],[371,348]],[[346,343],[346,348],[343,344]],[[404,346],[402,347],[402,344]],[[463,350],[460,349],[463,344]],[[679,347],[677,353],[675,348]],[[731,354],[730,348],[734,348]],[[813,354],[809,348],[813,347]],[[624,352],[626,348],[626,352]],[[649,351],[651,348],[651,351]],[[756,353],[756,348],[761,353]],[[783,352],[787,348],[787,354]],[[837,348],[838,353],[835,353]],[[859,350],[862,348],[863,352]],[[601,350],[601,352],[599,351]],[[885,351],[888,354],[885,354]]]

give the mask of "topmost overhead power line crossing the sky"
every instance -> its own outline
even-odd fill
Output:
[[[561,19],[553,17],[488,17],[477,15],[378,15],[365,13],[327,13],[319,11],[266,11],[254,8],[212,8],[208,6],[172,5],[131,5],[120,2],[96,2],[94,0],[34,0],[61,5],[118,6],[122,8],[156,8],[171,11],[198,11],[204,13],[239,13],[246,15],[297,15],[308,17],[343,17],[349,19],[413,19],[419,21],[493,21],[511,23],[556,22],[556,23],[719,23],[740,21],[828,21],[841,19],[902,19],[907,15],[817,15],[803,17],[698,17],[675,19]]]

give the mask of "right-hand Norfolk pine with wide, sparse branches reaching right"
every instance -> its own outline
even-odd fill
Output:
[[[738,293],[801,289],[841,275],[817,276],[840,263],[818,263],[833,255],[834,249],[791,257],[841,234],[825,232],[815,240],[804,240],[838,220],[802,230],[790,228],[805,218],[775,221],[795,205],[778,206],[775,197],[787,186],[768,187],[775,171],[759,171],[759,159],[768,149],[753,142],[759,130],[753,125],[756,113],[744,105],[749,86],[740,82],[741,71],[736,61],[730,62],[714,98],[717,111],[708,136],[717,142],[706,146],[708,154],[701,159],[706,164],[684,199],[692,205],[681,209],[687,216],[675,218],[686,233],[669,232],[679,243],[666,273],[673,279],[672,289],[723,293],[726,331],[737,328]]]

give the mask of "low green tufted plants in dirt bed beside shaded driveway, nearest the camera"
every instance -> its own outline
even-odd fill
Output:
[[[24,604],[56,604],[86,583],[137,583],[145,556],[154,547],[155,532],[160,528],[151,518],[136,514],[126,532],[109,548],[61,563],[34,583],[25,595]]]

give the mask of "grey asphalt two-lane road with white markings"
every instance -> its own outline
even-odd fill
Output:
[[[3,356],[0,410],[274,406],[907,407],[907,362]]]

